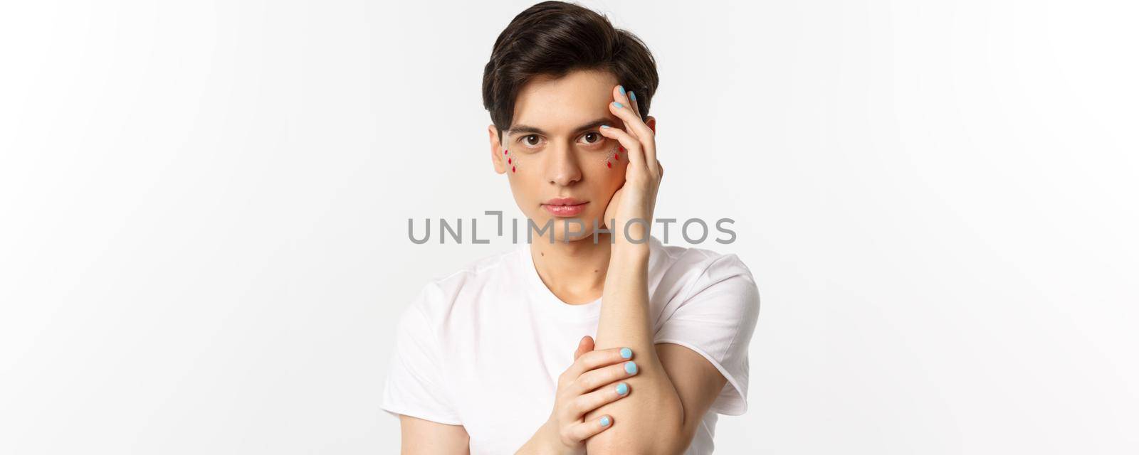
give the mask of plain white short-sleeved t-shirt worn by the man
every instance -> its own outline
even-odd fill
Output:
[[[711,454],[716,413],[747,410],[759,290],[736,255],[656,238],[648,278],[655,341],[693,349],[728,379],[686,452]],[[549,419],[558,375],[581,338],[596,337],[600,309],[600,299],[568,305],[550,292],[528,245],[477,260],[403,312],[380,407],[464,425],[472,454],[513,454]]]

